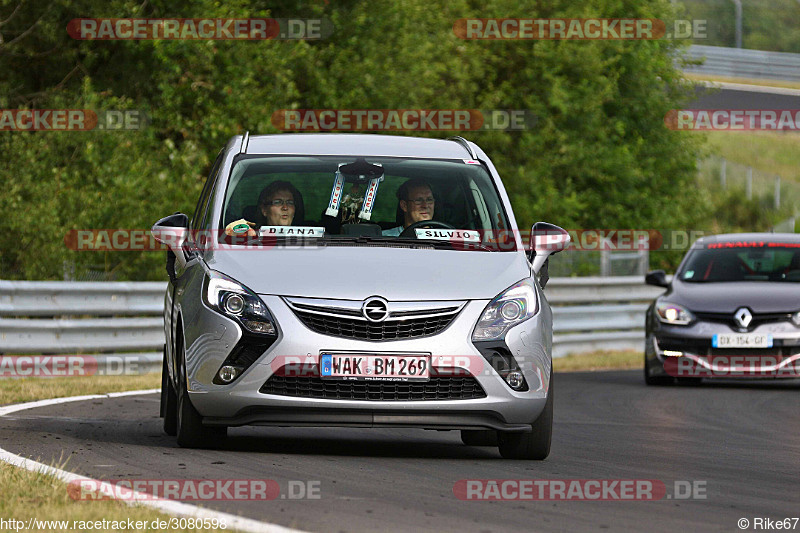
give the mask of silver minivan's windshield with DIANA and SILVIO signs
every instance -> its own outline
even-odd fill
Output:
[[[515,249],[491,176],[471,160],[242,156],[220,227],[255,239]]]

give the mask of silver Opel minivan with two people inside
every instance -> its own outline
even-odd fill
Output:
[[[233,137],[169,248],[164,430],[242,425],[460,430],[544,459],[553,421],[547,259],[461,137]],[[527,231],[525,233],[528,233]]]

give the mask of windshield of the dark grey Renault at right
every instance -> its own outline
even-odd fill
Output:
[[[800,281],[800,244],[710,243],[691,252],[678,279],[689,282]]]

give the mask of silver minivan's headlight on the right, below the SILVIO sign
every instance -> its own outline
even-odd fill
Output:
[[[535,315],[539,310],[539,303],[533,283],[531,278],[526,278],[489,302],[475,325],[472,340],[502,339],[509,329]]]

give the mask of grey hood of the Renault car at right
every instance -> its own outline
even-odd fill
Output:
[[[800,310],[800,283],[685,283],[676,280],[664,299],[701,313],[733,313],[740,307],[748,307],[754,313],[788,313]]]

